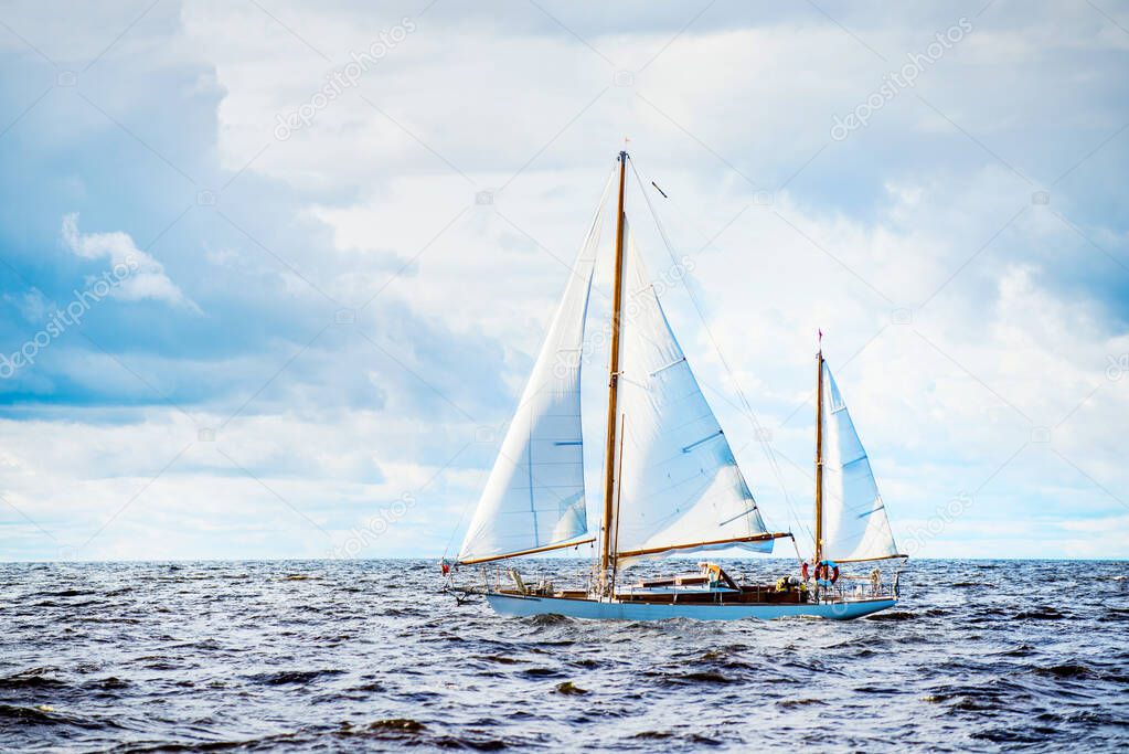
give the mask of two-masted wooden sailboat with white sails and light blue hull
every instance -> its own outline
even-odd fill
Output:
[[[841,572],[852,563],[904,563],[905,555],[894,545],[866,451],[823,358],[822,335],[812,562],[804,561],[798,576],[776,584],[746,584],[712,562],[688,573],[630,582],[628,569],[644,560],[716,551],[770,553],[777,540],[795,543],[795,537],[765,526],[647,275],[624,212],[629,160],[621,151],[458,555],[443,561],[446,587],[464,597],[484,595],[496,612],[515,616],[852,619],[892,607],[899,599],[896,575],[885,584],[879,569],[867,577]],[[603,494],[599,528],[589,535],[580,354],[603,209],[615,173]],[[580,545],[596,551],[583,588],[530,585],[516,568],[497,568]],[[483,581],[457,586],[456,575],[473,568],[483,572]]]

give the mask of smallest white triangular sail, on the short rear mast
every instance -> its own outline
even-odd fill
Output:
[[[863,442],[823,362],[823,552],[832,560],[898,554]]]

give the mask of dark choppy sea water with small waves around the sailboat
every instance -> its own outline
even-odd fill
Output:
[[[855,622],[596,623],[457,607],[429,562],[5,564],[0,748],[1126,751],[1127,573],[920,561]]]

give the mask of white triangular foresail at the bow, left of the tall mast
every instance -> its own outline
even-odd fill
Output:
[[[460,561],[561,544],[587,531],[580,349],[606,198],[605,186],[458,551]]]

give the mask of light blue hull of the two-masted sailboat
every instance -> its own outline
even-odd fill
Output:
[[[488,593],[487,602],[500,615],[564,615],[590,620],[611,621],[665,621],[689,617],[695,621],[736,621],[758,619],[770,621],[777,617],[811,615],[835,621],[861,617],[898,604],[893,598],[858,599],[825,604],[648,604],[625,602],[596,602],[595,599],[567,599],[562,597],[528,597]]]

